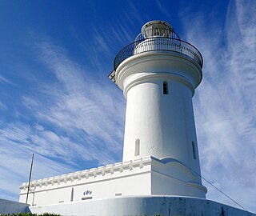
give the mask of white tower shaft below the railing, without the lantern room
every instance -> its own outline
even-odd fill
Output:
[[[153,51],[126,59],[118,66],[116,76],[127,99],[123,161],[148,155],[174,158],[200,174],[192,105],[194,88],[202,79],[200,66],[179,54]],[[162,92],[163,82],[168,83],[168,94]],[[137,140],[138,155],[135,154]],[[201,178],[196,182],[202,185]],[[161,185],[162,180],[154,184]],[[206,198],[206,193],[197,193],[188,184],[186,188],[182,183],[174,186],[176,195]]]

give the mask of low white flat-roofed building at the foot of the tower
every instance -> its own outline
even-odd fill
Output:
[[[42,206],[116,196],[183,195],[203,197],[206,188],[193,170],[174,158],[146,157],[31,182],[28,203]],[[28,183],[20,202],[26,202]]]

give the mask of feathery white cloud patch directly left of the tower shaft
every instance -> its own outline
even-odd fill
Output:
[[[70,137],[72,134],[84,136],[78,143],[82,146],[82,142],[85,142],[86,148],[82,152],[87,150],[86,155],[91,159],[98,160],[98,150],[108,146],[107,151],[102,152],[100,164],[120,158],[118,154],[122,150],[123,119],[121,110],[124,110],[124,104],[116,86],[106,86],[92,77],[90,80],[86,79],[85,75],[90,73],[86,73],[81,66],[67,58],[57,46],[44,42],[38,44],[38,49],[42,50],[40,59],[54,73],[58,85],[63,89],[60,93],[52,86],[42,86],[42,91],[54,104],[38,111],[38,116],[42,121],[62,127]],[[111,88],[110,96],[108,89]],[[114,101],[113,94],[116,94],[117,101]],[[113,132],[118,137],[114,138]]]

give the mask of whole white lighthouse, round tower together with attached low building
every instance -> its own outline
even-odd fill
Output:
[[[167,22],[148,22],[135,42],[117,54],[109,78],[127,100],[122,162],[33,181],[28,203],[87,202],[83,205],[94,206],[102,198],[162,195],[194,198],[191,205],[197,198],[206,203],[192,105],[202,81],[200,52],[180,40]],[[26,202],[27,190],[28,182],[21,186],[20,202]],[[212,206],[215,211],[220,207]],[[34,208],[40,213],[42,209]],[[136,214],[145,214],[142,209]]]

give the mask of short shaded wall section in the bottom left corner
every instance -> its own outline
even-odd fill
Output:
[[[14,202],[0,198],[0,214],[15,214],[29,212],[28,204],[22,202]]]

